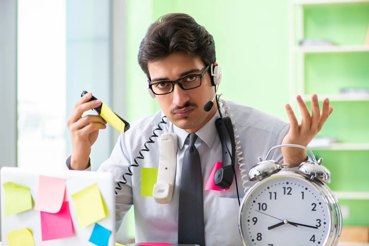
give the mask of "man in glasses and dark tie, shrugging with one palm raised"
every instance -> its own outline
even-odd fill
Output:
[[[203,109],[215,95],[212,81],[214,84],[214,80],[219,79],[211,73],[218,66],[213,36],[189,15],[164,15],[149,27],[142,39],[138,62],[148,77],[149,89],[161,110],[132,122],[131,128],[118,138],[110,158],[99,168],[99,171],[113,173],[118,182],[123,181],[122,174],[128,172],[128,166],[135,165],[135,161],[138,163],[138,167],[130,167],[133,175],[125,175],[127,183],[121,185],[122,189],[116,195],[117,222],[134,204],[136,242],[242,245],[237,222],[239,205],[235,179],[230,189],[225,191],[204,189],[207,180],[214,178],[210,172],[215,162],[222,161],[220,136],[215,127],[215,120],[220,117],[217,106],[208,112]],[[91,93],[83,96],[68,119],[73,146],[72,155],[67,160],[70,169],[89,168],[91,145],[96,141],[99,130],[106,128],[106,122],[98,115],[82,117],[83,112],[101,104],[100,101],[88,102],[91,96]],[[231,120],[237,128],[246,172],[257,163],[259,156],[264,157],[275,145],[307,146],[333,110],[325,99],[320,112],[316,95],[312,96],[311,115],[300,96],[297,96],[297,101],[303,116],[301,124],[288,104],[286,112],[290,123],[254,108],[227,102],[228,113],[233,115]],[[225,110],[220,106],[224,116]],[[143,159],[135,159],[144,149],[144,143],[154,135],[153,131],[163,116],[167,117],[163,118],[166,124],[160,124],[162,130],[155,131],[159,137],[152,137],[155,143],[146,144],[149,151],[141,152]],[[178,137],[177,166],[172,200],[159,204],[152,196],[141,193],[142,182],[148,178],[142,168],[158,168],[158,140],[166,132],[175,133]],[[191,159],[186,152],[188,149],[197,151],[200,158]],[[303,149],[284,147],[276,149],[270,159],[296,168],[307,156]],[[191,166],[195,162],[198,164]],[[245,193],[237,159],[235,170],[242,199]],[[192,188],[188,188],[187,180],[192,180]],[[246,184],[251,186],[253,182]]]

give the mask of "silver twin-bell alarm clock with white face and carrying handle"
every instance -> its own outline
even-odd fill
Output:
[[[268,160],[280,147],[304,148],[312,161],[299,171],[281,171],[283,166]],[[273,147],[248,172],[257,181],[245,194],[239,208],[238,226],[245,246],[335,246],[342,231],[341,208],[325,183],[331,174],[307,147],[282,144]]]

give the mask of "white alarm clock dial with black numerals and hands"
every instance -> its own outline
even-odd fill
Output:
[[[247,246],[324,246],[331,229],[323,197],[310,182],[292,176],[261,183],[241,212]]]

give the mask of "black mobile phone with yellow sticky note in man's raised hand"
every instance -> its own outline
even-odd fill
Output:
[[[82,91],[81,97],[87,94],[87,91]],[[90,101],[98,100],[96,97],[92,96]],[[115,129],[120,131],[121,133],[125,133],[128,129],[130,129],[130,123],[124,120],[122,117],[117,115],[113,110],[111,110],[105,103],[101,103],[101,105],[97,108],[93,108],[99,115],[108,122]]]

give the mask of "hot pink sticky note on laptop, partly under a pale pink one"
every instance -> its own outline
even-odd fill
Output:
[[[69,202],[63,203],[56,214],[40,212],[42,241],[69,238],[73,236],[73,222],[69,211]]]

